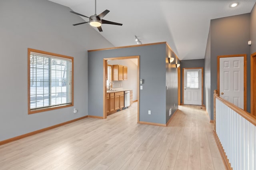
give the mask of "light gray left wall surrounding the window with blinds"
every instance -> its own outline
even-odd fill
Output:
[[[83,20],[69,11],[47,0],[0,1],[0,141],[88,115],[87,49],[113,45],[87,24],[72,26]],[[74,107],[28,115],[28,47],[74,57]]]

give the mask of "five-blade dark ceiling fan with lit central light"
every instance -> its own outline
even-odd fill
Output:
[[[82,14],[79,14],[79,13],[74,12],[74,11],[70,11],[70,12],[73,13],[73,14],[76,14],[76,15],[80,15],[80,16],[89,18],[89,21],[88,21],[89,24],[91,26],[93,26],[93,27],[97,27],[100,32],[102,32],[101,24],[112,24],[112,25],[118,25],[118,26],[122,26],[123,25],[123,24],[116,23],[116,22],[102,20],[102,18],[104,16],[106,16],[106,14],[108,14],[108,12],[110,12],[110,11],[109,10],[105,10],[102,13],[100,13],[99,15],[97,15],[96,14],[96,0],[95,0],[95,14],[90,16],[90,17],[82,15]],[[85,24],[85,23],[88,23],[88,22],[81,22],[81,23],[78,23],[78,24],[73,24],[73,26],[77,26],[77,25],[80,25],[80,24]]]

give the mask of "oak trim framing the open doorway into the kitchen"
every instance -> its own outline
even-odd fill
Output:
[[[135,90],[133,90],[135,93],[134,93],[134,95],[136,95],[137,96],[137,101],[138,101],[138,109],[137,109],[137,115],[138,115],[138,118],[137,118],[137,123],[140,121],[139,119],[140,119],[140,93],[139,93],[139,79],[140,79],[140,56],[139,55],[136,55],[136,56],[128,56],[128,57],[113,57],[113,58],[104,58],[103,59],[103,75],[104,75],[104,77],[103,77],[103,119],[106,119],[107,118],[107,111],[106,111],[106,109],[107,109],[107,107],[108,107],[108,105],[106,104],[106,95],[107,95],[107,86],[109,86],[108,88],[110,89],[110,88],[113,88],[113,83],[110,83],[110,81],[109,81],[109,79],[108,79],[108,77],[109,77],[109,75],[108,75],[108,68],[109,68],[109,66],[108,66],[108,61],[113,61],[113,60],[130,60],[130,61],[132,61],[132,62],[134,62],[135,64],[137,63],[137,72],[138,72],[138,74],[136,75],[137,76],[137,83],[136,83],[136,85],[134,85],[134,87],[135,87]],[[127,73],[127,79],[129,79],[129,72]],[[132,75],[130,75],[130,76],[132,76]],[[133,75],[134,76],[134,75]],[[109,85],[107,85],[107,81],[108,81],[108,83],[109,83]],[[127,81],[127,80],[124,80],[124,81]],[[121,84],[122,84],[122,82],[121,82]],[[125,89],[124,89],[125,90]]]

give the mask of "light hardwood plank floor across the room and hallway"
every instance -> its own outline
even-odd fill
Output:
[[[107,119],[86,118],[0,146],[0,169],[224,170],[213,125],[179,106],[168,127],[137,124],[137,103]]]

